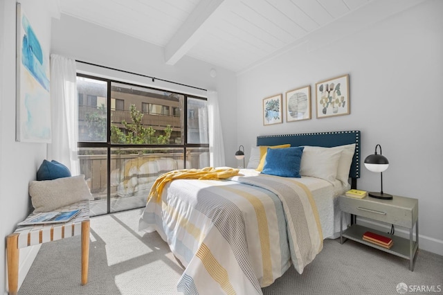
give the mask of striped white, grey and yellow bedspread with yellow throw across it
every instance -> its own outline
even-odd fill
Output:
[[[167,173],[152,188],[138,229],[168,242],[186,268],[177,283],[186,295],[263,294],[291,265],[302,274],[323,248],[307,186],[255,170]]]

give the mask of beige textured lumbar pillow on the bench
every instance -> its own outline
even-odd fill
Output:
[[[91,199],[84,175],[29,182],[29,195],[35,212],[57,208]]]

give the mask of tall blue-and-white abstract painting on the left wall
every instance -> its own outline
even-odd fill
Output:
[[[51,143],[49,55],[17,3],[16,140]]]

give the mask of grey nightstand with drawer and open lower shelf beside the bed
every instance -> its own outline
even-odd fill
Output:
[[[392,199],[376,199],[373,197],[358,199],[341,195],[338,197],[338,204],[340,206],[341,244],[344,242],[343,238],[348,238],[370,247],[377,248],[381,251],[391,253],[395,256],[406,258],[410,260],[410,271],[413,271],[414,258],[418,249],[418,199],[399,196],[394,196]],[[358,224],[352,224],[352,226],[346,231],[343,231],[343,212],[405,227],[409,229],[409,240]],[[413,240],[414,226],[415,241]],[[379,235],[385,235],[386,237],[391,238],[393,241],[392,247],[386,249],[363,240],[363,233],[366,231],[372,231],[373,233],[378,233]]]

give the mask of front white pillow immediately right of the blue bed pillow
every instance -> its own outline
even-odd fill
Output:
[[[300,175],[317,177],[333,183],[337,176],[342,149],[305,145],[300,163]]]

